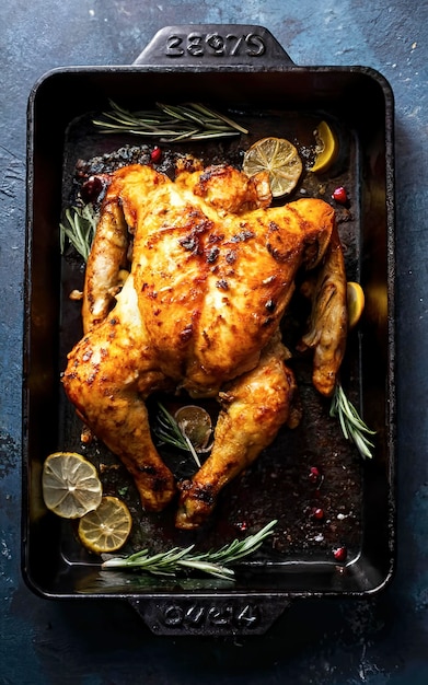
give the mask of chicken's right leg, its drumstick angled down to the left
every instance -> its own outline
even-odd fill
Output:
[[[258,365],[220,393],[220,411],[210,456],[182,495],[175,525],[192,530],[207,520],[221,489],[250,466],[285,423],[299,421],[292,407],[294,376],[284,363],[288,350],[277,337],[262,353]]]

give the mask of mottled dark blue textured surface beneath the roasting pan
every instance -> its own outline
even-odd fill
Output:
[[[263,638],[157,638],[126,604],[47,602],[20,573],[27,96],[54,67],[130,63],[159,28],[189,22],[262,24],[302,66],[373,67],[396,102],[397,572],[372,600],[298,603]],[[1,3],[0,683],[428,682],[427,40],[420,0]]]

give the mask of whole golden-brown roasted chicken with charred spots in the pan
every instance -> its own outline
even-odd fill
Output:
[[[333,208],[320,199],[273,207],[267,175],[229,165],[174,181],[130,165],[108,177],[86,265],[83,338],[63,387],[79,416],[135,479],[142,506],[177,495],[176,526],[194,529],[221,489],[299,421],[280,322],[304,274],[311,299],[300,349],[313,384],[335,387],[347,335],[346,275]],[[210,455],[175,483],[151,438],[154,392],[220,403]]]

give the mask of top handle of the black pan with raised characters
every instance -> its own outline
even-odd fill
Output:
[[[135,60],[140,66],[247,66],[275,69],[293,65],[263,26],[253,24],[183,24],[164,26]]]

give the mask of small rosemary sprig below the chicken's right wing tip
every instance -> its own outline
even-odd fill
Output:
[[[375,431],[365,423],[359,416],[357,409],[345,395],[344,388],[339,382],[336,383],[329,416],[338,417],[342,432],[347,440],[350,440],[357,446],[362,458],[371,458],[371,448],[374,444],[369,440],[368,436],[374,436]]]

